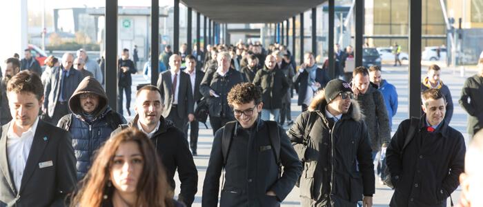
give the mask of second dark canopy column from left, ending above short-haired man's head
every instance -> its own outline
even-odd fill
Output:
[[[159,77],[159,0],[151,0],[151,84]]]

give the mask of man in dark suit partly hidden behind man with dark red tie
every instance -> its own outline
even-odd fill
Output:
[[[186,74],[190,76],[191,90],[193,92],[193,108],[196,108],[197,103],[201,100],[201,92],[199,92],[199,84],[205,76],[205,73],[201,70],[196,70],[196,58],[193,55],[186,56]],[[197,155],[196,148],[198,143],[198,130],[199,122],[196,120],[190,121],[190,148],[193,155]],[[188,135],[188,124],[184,128],[184,133]]]

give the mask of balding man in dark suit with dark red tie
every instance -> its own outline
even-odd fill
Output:
[[[179,130],[184,130],[188,121],[193,121],[193,91],[191,89],[190,75],[181,72],[181,56],[171,55],[169,59],[170,70],[161,72],[157,87],[161,90],[165,110],[161,114],[175,123]],[[188,120],[186,120],[188,119]]]

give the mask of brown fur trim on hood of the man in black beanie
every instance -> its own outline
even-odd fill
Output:
[[[324,90],[319,90],[317,95],[313,97],[310,106],[308,106],[308,111],[322,111],[325,112],[325,108],[327,106],[327,101],[325,99],[325,91]],[[348,110],[348,115],[351,115],[351,118],[354,119],[355,121],[362,121],[364,119],[364,114],[362,110],[359,107],[359,103],[357,100],[352,99],[351,100],[351,106],[349,107]]]

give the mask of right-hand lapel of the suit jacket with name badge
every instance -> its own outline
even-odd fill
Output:
[[[32,141],[32,148],[30,148],[30,152],[28,154],[27,164],[25,166],[25,170],[23,170],[19,192],[22,192],[22,190],[25,188],[35,169],[39,168],[39,159],[43,154],[43,150],[46,149],[49,141],[48,136],[46,135],[46,130],[44,130],[46,127],[47,124],[43,123],[43,121],[39,119],[39,124],[37,124],[37,129],[35,130],[34,140]]]

